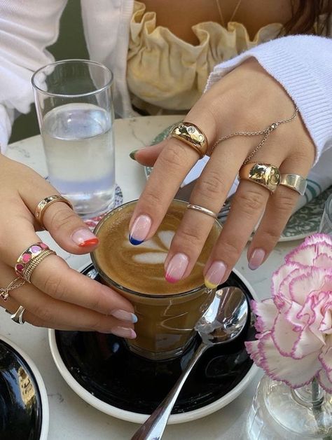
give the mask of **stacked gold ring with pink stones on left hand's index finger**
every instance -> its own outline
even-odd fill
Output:
[[[46,256],[55,254],[48,245],[38,242],[29,246],[20,254],[15,264],[15,273],[23,280],[30,282],[32,272]]]

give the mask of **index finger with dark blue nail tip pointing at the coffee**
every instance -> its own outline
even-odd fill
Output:
[[[202,111],[202,107],[205,111]],[[187,121],[197,124],[212,144],[216,135],[214,119],[202,104],[195,106]],[[167,212],[170,202],[177,193],[181,182],[195,165],[200,156],[195,149],[171,137],[155,162],[144,191],[137,202],[130,221],[130,240],[138,244],[151,238]],[[165,184],[167,182],[167,184]]]

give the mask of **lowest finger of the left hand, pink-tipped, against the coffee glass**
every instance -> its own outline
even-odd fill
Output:
[[[7,283],[6,285],[13,280],[13,270],[3,263],[0,266],[0,274],[1,282]],[[26,309],[24,319],[36,326],[100,331],[128,338],[134,337],[132,322],[125,322],[94,310],[50,298],[32,284],[26,283],[11,291],[10,299],[6,303],[11,306],[10,310],[14,311],[22,305]]]

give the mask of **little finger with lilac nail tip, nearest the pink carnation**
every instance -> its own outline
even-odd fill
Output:
[[[307,158],[289,158],[282,163],[280,172],[296,173],[306,176],[310,169]],[[291,188],[279,185],[269,198],[263,219],[257,228],[248,249],[249,268],[257,269],[268,258],[277,244],[282,231],[293,214],[300,195]]]

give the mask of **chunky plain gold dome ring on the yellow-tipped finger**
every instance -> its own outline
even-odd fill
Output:
[[[249,180],[255,184],[264,186],[271,193],[274,193],[280,184],[279,168],[270,163],[247,163],[242,165],[239,178]]]

